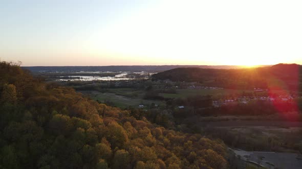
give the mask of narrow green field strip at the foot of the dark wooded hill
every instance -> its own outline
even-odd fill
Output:
[[[235,90],[235,89],[178,89],[177,94],[161,93],[164,98],[186,98],[195,95],[231,95],[241,94],[242,92],[252,92],[251,90]]]

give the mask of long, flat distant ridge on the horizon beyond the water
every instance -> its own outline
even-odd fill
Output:
[[[260,67],[265,67],[260,66]],[[22,67],[31,72],[80,72],[80,71],[147,71],[162,72],[175,68],[205,68],[205,69],[240,69],[242,66],[208,66],[208,65],[160,65],[160,66],[29,66]]]

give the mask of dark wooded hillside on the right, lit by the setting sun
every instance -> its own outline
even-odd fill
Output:
[[[302,66],[278,64],[245,69],[176,68],[154,74],[153,80],[201,82],[205,86],[226,89],[268,89],[272,87],[300,90]]]

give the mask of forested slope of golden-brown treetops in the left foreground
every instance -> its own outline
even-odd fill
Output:
[[[3,61],[0,135],[0,168],[229,167],[220,139],[151,123]]]

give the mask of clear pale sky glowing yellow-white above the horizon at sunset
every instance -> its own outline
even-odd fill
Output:
[[[302,65],[302,1],[0,0],[23,66]]]

